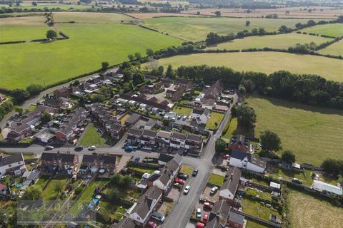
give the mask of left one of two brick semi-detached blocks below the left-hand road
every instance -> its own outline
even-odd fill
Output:
[[[52,171],[57,168],[69,175],[76,171],[79,165],[79,155],[43,152],[41,154],[41,170]]]

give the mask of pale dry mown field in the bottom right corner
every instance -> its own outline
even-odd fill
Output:
[[[290,191],[289,217],[292,228],[342,227],[343,209],[302,192]]]

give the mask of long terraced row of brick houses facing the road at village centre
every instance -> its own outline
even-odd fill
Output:
[[[164,130],[142,130],[130,128],[127,131],[127,142],[131,144],[142,143],[146,146],[158,145],[159,147],[185,148],[202,150],[203,138],[200,135],[167,132]]]

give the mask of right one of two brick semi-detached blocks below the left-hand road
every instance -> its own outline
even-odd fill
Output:
[[[116,156],[84,155],[79,171],[82,175],[86,175],[89,171],[91,171],[91,174],[96,174],[101,169],[114,173],[116,169]]]

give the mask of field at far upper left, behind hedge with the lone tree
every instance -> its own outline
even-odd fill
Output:
[[[46,38],[49,28],[44,16],[26,16],[0,19],[0,42],[31,41]]]

